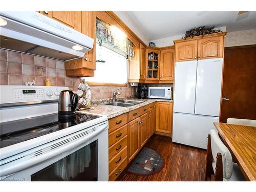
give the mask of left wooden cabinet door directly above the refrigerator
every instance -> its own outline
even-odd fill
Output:
[[[175,61],[197,60],[198,40],[185,40],[176,43]]]

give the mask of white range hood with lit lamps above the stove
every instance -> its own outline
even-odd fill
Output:
[[[67,61],[93,48],[92,38],[38,12],[3,11],[0,17],[3,49]]]

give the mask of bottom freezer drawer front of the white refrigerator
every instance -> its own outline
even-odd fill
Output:
[[[219,117],[174,113],[173,142],[207,148],[207,136]]]

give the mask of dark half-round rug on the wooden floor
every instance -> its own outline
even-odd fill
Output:
[[[159,173],[163,165],[164,160],[161,155],[144,147],[127,171],[135,175],[148,176]]]

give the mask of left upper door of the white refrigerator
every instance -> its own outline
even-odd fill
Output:
[[[195,112],[197,61],[175,63],[174,112]]]

